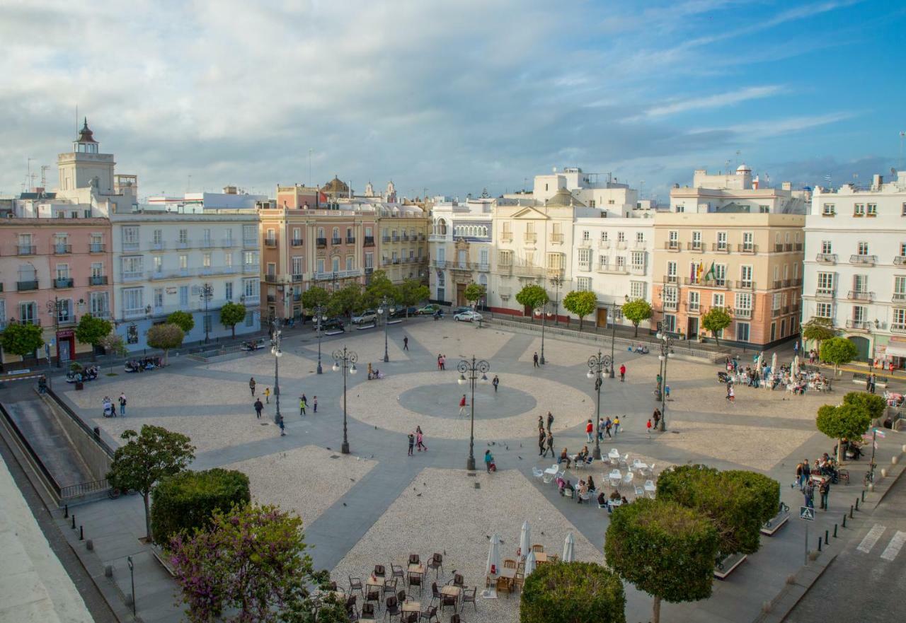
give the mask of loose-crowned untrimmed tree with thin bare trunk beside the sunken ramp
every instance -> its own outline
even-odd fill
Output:
[[[149,500],[154,484],[178,474],[195,458],[195,446],[188,436],[171,433],[166,428],[144,425],[141,432],[123,431],[126,440],[113,453],[107,480],[112,487],[138,491],[145,503],[146,539],[151,538]]]

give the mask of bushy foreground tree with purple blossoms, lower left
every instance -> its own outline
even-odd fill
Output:
[[[323,574],[305,549],[295,514],[256,504],[215,511],[209,529],[170,542],[188,621],[314,621],[306,585],[323,585]]]

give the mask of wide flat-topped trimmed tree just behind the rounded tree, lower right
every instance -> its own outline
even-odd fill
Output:
[[[679,465],[660,474],[658,498],[708,517],[721,555],[751,554],[760,546],[761,526],[777,512],[780,484],[755,472]]]

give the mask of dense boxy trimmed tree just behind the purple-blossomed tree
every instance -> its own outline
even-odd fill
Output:
[[[187,470],[165,478],[151,492],[151,535],[167,545],[179,532],[207,530],[215,510],[251,502],[248,476],[236,470]]]

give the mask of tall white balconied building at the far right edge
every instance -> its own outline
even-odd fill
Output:
[[[834,321],[859,359],[906,363],[906,171],[868,188],[814,190],[805,217],[803,316]]]

